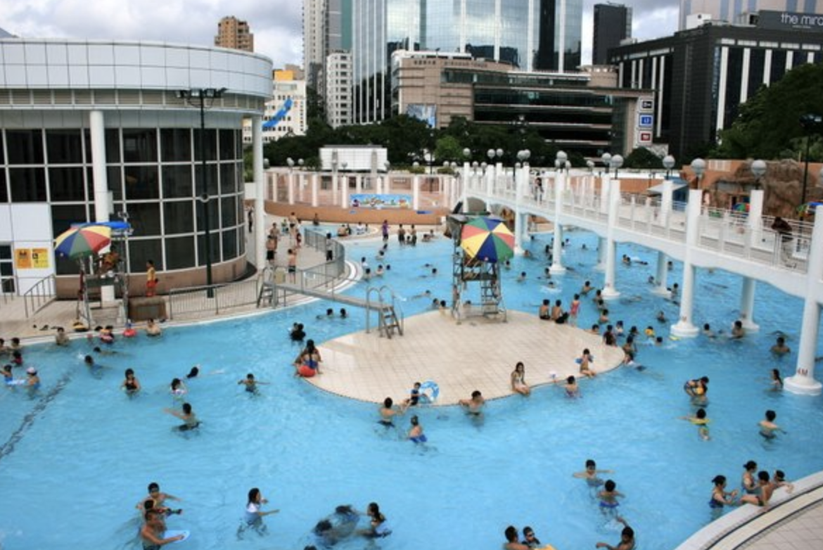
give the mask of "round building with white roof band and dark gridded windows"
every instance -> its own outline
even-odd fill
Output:
[[[200,284],[209,240],[215,281],[239,277],[242,120],[260,124],[271,74],[270,59],[238,50],[0,40],[3,291],[22,293],[57,275],[58,294],[74,296],[77,263],[56,258],[53,239],[75,223],[117,219],[133,226],[120,251],[129,273],[145,272],[152,259],[165,286]],[[205,99],[202,110],[180,94],[206,90],[220,97]],[[262,179],[260,137],[254,146]]]

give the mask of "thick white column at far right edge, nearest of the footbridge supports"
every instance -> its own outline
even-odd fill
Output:
[[[817,303],[818,281],[823,278],[823,216],[816,216],[811,232],[808,269],[806,274],[806,301],[803,305],[803,324],[797,349],[797,369],[793,376],[783,380],[783,388],[793,394],[818,395],[821,383],[815,380],[817,333],[821,325],[821,306]]]

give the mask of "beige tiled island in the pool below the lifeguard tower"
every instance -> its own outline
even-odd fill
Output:
[[[623,359],[619,347],[605,346],[595,334],[516,311],[509,311],[506,321],[477,316],[459,324],[449,310],[430,311],[406,319],[402,336],[389,339],[372,329],[318,347],[322,374],[306,380],[332,394],[374,403],[386,397],[399,403],[416,381],[426,380],[439,386],[438,405],[457,404],[475,389],[486,399],[506,397],[513,394],[509,380],[518,361],[528,385],[565,385],[569,375],[581,378],[574,359],[585,347],[597,372]]]

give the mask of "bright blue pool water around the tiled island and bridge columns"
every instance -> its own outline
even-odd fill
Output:
[[[585,278],[602,285],[602,273],[592,270],[597,240],[569,236],[565,264],[574,272],[556,278],[558,289],[536,278],[546,266],[548,237],[532,242],[537,259],[514,259],[504,272],[509,309],[536,314],[543,298],[568,304]],[[580,248],[583,243],[588,249]],[[365,255],[374,267],[378,247],[374,240],[354,242],[347,254]],[[413,298],[425,290],[449,296],[450,253],[443,239],[416,249],[398,249],[391,241],[384,263],[392,269],[383,282],[407,297],[405,315],[430,307],[430,299]],[[618,254],[650,263],[656,255],[626,245]],[[430,273],[426,263],[438,268],[436,277],[423,277]],[[678,269],[669,274],[670,284],[680,282]],[[609,305],[611,319],[624,319],[627,328],[653,324],[666,334],[668,325],[653,317],[663,310],[677,319],[677,306],[649,294],[653,270],[653,264],[619,268],[623,299]],[[521,271],[528,273],[526,282],[516,281]],[[700,271],[698,285],[695,319],[728,328],[737,315],[740,279]],[[362,282],[351,289],[364,291]],[[458,408],[422,409],[430,438],[422,446],[378,426],[373,405],[324,394],[292,376],[298,349],[286,337],[291,323],[305,323],[319,343],[363,328],[359,311],[346,320],[315,319],[327,307],[339,309],[319,302],[167,329],[159,340],[121,339],[117,355],[100,358],[109,368],[99,377],[82,365],[85,342],[69,350],[27,349],[26,363],[40,367],[44,388],[31,399],[22,391],[0,392],[0,494],[7,502],[0,514],[2,548],[138,548],[134,505],[151,481],[184,499],[183,515],[168,520],[170,529],[192,531],[181,549],[300,550],[334,506],[364,510],[370,501],[380,503],[393,534],[374,546],[360,538],[335,548],[500,548],[509,524],[531,525],[560,550],[593,548],[619,538],[585,483],[571,475],[593,458],[598,467],[615,470],[607,477],[626,495],[620,513],[638,533],[639,548],[668,550],[712,519],[707,501],[714,475],[723,473],[736,486],[749,459],[770,471],[782,468],[789,478],[823,468],[821,399],[767,391],[771,368],[793,372],[802,303],[764,284],[757,287],[755,315],[762,329],[742,342],[666,339],[664,347],[641,347],[645,371],[621,369],[582,382],[584,399],[538,388],[529,399],[489,403],[479,424]],[[591,301],[584,301],[579,324],[595,318]],[[793,353],[781,361],[768,352],[775,329],[791,337]],[[514,364],[517,351],[511,355]],[[171,378],[196,363],[205,375],[188,384],[188,401],[202,426],[183,435],[172,430],[179,421],[163,409],[174,405]],[[144,388],[135,399],[119,390],[129,366]],[[247,372],[270,383],[258,396],[237,385]],[[700,375],[711,378],[710,441],[679,419],[695,410],[681,386]],[[788,435],[765,442],[757,434],[766,408],[777,411]],[[267,534],[239,539],[251,487],[269,499],[264,510],[281,512],[264,520]]]

